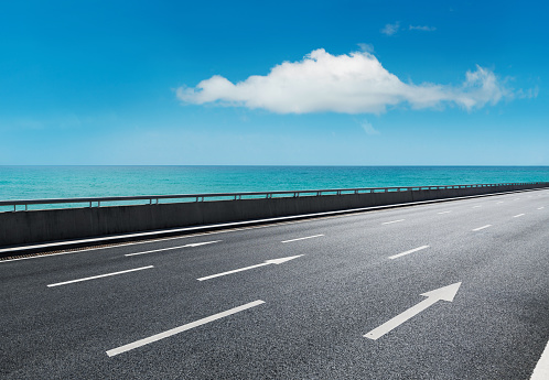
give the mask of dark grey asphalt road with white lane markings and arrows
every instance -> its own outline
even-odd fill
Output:
[[[0,378],[530,379],[548,227],[534,191],[0,261]]]

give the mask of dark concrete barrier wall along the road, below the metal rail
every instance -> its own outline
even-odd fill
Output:
[[[0,213],[0,247],[536,188],[502,185]]]

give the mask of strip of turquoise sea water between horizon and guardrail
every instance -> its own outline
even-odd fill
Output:
[[[547,181],[549,166],[0,166],[0,200]]]

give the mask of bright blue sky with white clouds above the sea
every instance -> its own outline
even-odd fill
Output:
[[[549,165],[545,1],[10,1],[0,165]]]

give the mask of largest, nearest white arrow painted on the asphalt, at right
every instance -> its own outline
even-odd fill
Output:
[[[416,306],[408,308],[406,312],[397,315],[392,319],[387,321],[381,326],[374,328],[368,334],[364,335],[365,338],[370,338],[373,340],[377,340],[385,334],[389,333],[391,329],[400,326],[406,321],[421,313],[429,306],[435,304],[438,301],[448,301],[452,302],[454,300],[455,293],[460,289],[461,282],[456,282],[455,284],[451,284],[448,286],[435,289],[434,291],[430,291],[421,294],[422,296],[428,297],[427,300],[421,301]]]

